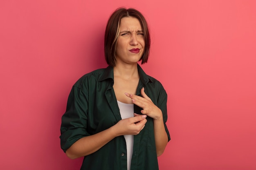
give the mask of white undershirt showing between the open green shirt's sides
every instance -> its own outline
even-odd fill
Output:
[[[126,104],[117,101],[121,118],[126,119],[129,117],[133,117],[134,108],[133,104]],[[131,161],[132,161],[132,150],[133,150],[133,135],[124,135],[126,140],[126,149],[127,149],[127,170],[130,170]]]

